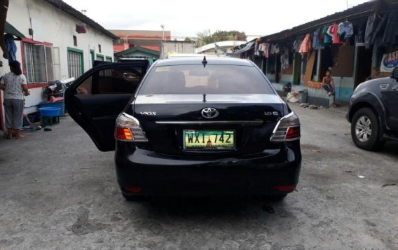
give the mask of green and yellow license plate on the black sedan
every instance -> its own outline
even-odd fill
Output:
[[[234,130],[184,130],[185,150],[234,150]]]

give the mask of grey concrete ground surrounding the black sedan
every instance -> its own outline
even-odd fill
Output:
[[[113,153],[70,118],[0,139],[0,249],[398,249],[398,144],[362,151],[341,109],[291,107],[303,167],[282,202],[126,202]]]

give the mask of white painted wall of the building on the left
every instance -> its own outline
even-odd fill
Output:
[[[83,14],[82,14],[83,15]],[[30,21],[32,20],[32,22]],[[101,54],[106,57],[114,57],[113,41],[109,36],[102,34],[97,29],[87,26],[87,33],[77,34],[76,24],[81,21],[73,16],[62,12],[55,6],[43,0],[12,0],[8,8],[7,22],[13,25],[18,31],[22,32],[27,38],[39,42],[53,43],[54,48],[60,48],[60,79],[69,78],[67,64],[67,48],[83,50],[84,71],[92,67],[90,50],[95,51],[95,55]],[[32,36],[29,29],[34,30]],[[77,37],[77,45],[74,46],[73,36]],[[19,41],[17,45],[17,60],[22,63],[22,46]],[[101,45],[102,53],[99,53],[98,45]],[[9,72],[8,61],[1,58],[4,67],[0,67],[0,75]],[[57,74],[55,74],[57,76]],[[41,88],[31,89],[31,95],[26,97],[25,113],[36,111],[36,105],[43,101]],[[4,109],[3,109],[4,110]]]

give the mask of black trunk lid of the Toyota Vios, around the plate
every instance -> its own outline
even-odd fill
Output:
[[[203,110],[217,110],[207,118]],[[167,155],[225,155],[260,153],[270,145],[284,103],[276,95],[138,95],[133,116],[139,120],[149,146]],[[186,149],[184,131],[233,131],[234,148]],[[203,140],[205,138],[202,138]],[[206,139],[207,140],[207,139]]]

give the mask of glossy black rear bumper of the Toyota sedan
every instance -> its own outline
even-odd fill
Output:
[[[187,159],[118,143],[116,174],[137,195],[265,195],[290,193],[299,181],[299,141],[245,158]],[[130,152],[128,154],[127,152]]]

